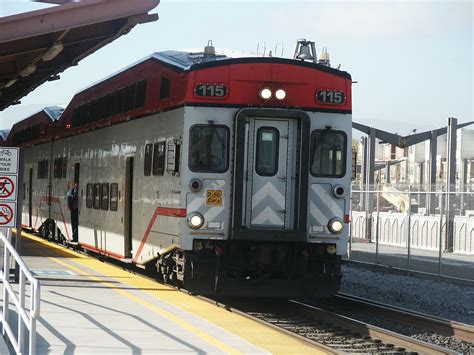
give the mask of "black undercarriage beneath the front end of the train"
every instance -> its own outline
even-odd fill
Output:
[[[156,262],[165,282],[202,295],[331,297],[341,283],[341,257],[329,244],[195,240]]]

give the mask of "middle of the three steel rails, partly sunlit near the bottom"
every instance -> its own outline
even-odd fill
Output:
[[[417,339],[410,338],[405,335],[382,329],[349,317],[339,315],[334,312],[326,311],[312,305],[305,304],[300,301],[290,300],[295,306],[300,307],[301,312],[311,313],[318,319],[330,322],[353,332],[370,336],[373,339],[381,340],[387,344],[405,348],[406,351],[417,352],[420,354],[458,354],[456,351],[442,348],[437,345],[429,344]]]

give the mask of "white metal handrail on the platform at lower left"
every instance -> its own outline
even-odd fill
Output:
[[[36,321],[40,316],[40,283],[33,276],[20,255],[11,244],[11,229],[0,229],[0,240],[3,244],[3,269],[0,270],[1,282],[3,284],[2,309],[0,310],[0,321],[2,335],[8,336],[10,343],[17,354],[24,354],[25,338],[28,339],[28,353],[36,354]],[[10,283],[10,257],[13,257],[19,268],[18,290],[15,291]],[[26,281],[30,284],[30,304],[25,305]],[[10,302],[16,307],[18,315],[17,334],[10,326]],[[25,332],[25,327],[28,332]]]

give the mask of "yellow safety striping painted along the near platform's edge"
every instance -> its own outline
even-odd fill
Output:
[[[45,243],[44,239],[37,238],[29,234],[25,234],[28,238]],[[48,247],[56,249],[60,253],[66,253],[74,255],[75,259],[71,262],[77,263],[79,265],[85,266],[94,270],[98,273],[106,275],[112,279],[117,280],[120,283],[133,286],[141,292],[145,292],[154,298],[157,298],[161,301],[167,302],[175,307],[179,307],[191,314],[199,316],[200,318],[206,319],[217,326],[228,330],[229,332],[249,341],[250,343],[261,347],[262,349],[271,352],[272,354],[324,354],[324,352],[318,351],[314,347],[305,344],[302,341],[299,341],[295,338],[287,336],[275,329],[266,327],[258,322],[255,322],[251,319],[242,317],[238,314],[229,312],[222,308],[216,307],[215,305],[204,302],[198,298],[193,298],[183,292],[179,292],[172,287],[157,283],[153,280],[141,277],[140,275],[132,274],[128,271],[124,271],[114,265],[106,264],[99,262],[97,259],[84,256],[82,254],[76,253],[69,249],[65,249],[58,245],[47,243]],[[100,280],[94,275],[88,274],[87,272],[77,269],[72,265],[64,263],[57,258],[49,257],[51,260],[55,261],[58,264],[63,265],[64,267],[70,268],[71,270],[82,274],[86,277],[89,277],[94,280]],[[102,284],[107,287],[110,287],[114,291],[132,299],[133,301],[145,305],[146,307],[153,309],[156,313],[170,319],[171,321],[179,324],[183,328],[189,330],[190,332],[198,335],[204,340],[208,341],[212,345],[219,347],[227,353],[239,353],[238,350],[222,343],[218,339],[207,335],[202,332],[200,329],[189,325],[184,322],[179,317],[147,302],[141,300],[140,298],[130,294],[127,291],[117,288],[117,285],[112,282],[107,282],[100,280]],[[166,292],[162,292],[166,290]],[[176,292],[169,292],[169,290],[174,290]]]

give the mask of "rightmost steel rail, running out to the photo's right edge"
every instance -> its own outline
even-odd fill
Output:
[[[390,317],[390,319],[406,325],[416,326],[444,336],[453,336],[459,340],[474,343],[473,325],[451,321],[344,293],[338,293],[336,300],[345,304],[357,305],[358,309],[363,308],[364,311],[370,312],[371,314],[383,313]]]

